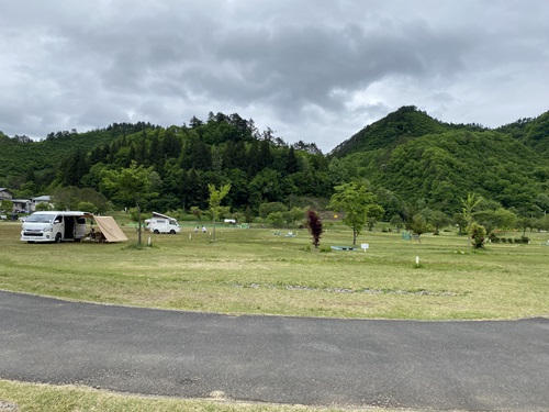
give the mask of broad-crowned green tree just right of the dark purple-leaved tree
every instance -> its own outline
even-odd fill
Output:
[[[363,185],[350,182],[336,186],[335,193],[329,201],[329,208],[345,212],[343,222],[352,229],[352,244],[357,244],[357,236],[368,222],[368,211],[377,205],[376,196]]]

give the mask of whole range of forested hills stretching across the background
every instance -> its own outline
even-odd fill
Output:
[[[492,209],[539,215],[549,211],[549,112],[489,130],[403,107],[327,156],[314,143],[290,145],[270,129],[259,132],[236,113],[167,129],[122,123],[58,132],[41,142],[0,133],[0,187],[18,197],[76,187],[110,198],[103,171],[134,163],[153,172],[158,197],[145,207],[159,212],[208,208],[210,183],[232,185],[233,211],[258,213],[265,203],[325,205],[335,186],[359,180],[385,219],[419,204],[451,215],[469,192]]]

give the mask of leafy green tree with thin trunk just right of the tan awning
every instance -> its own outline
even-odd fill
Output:
[[[157,196],[153,191],[150,181],[153,167],[145,168],[143,165],[137,166],[135,160],[132,160],[130,167],[120,170],[104,170],[101,186],[114,193],[117,200],[122,203],[134,202],[137,208],[137,233],[138,244],[142,244],[142,204],[143,201]]]

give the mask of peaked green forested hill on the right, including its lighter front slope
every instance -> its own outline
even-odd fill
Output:
[[[549,112],[490,130],[403,107],[332,153],[388,198],[456,210],[467,192],[515,210],[549,210]],[[494,203],[494,204],[495,204]],[[396,207],[399,208],[399,205]]]

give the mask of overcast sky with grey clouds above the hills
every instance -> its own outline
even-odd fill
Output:
[[[547,0],[0,0],[0,131],[254,119],[328,153],[402,105],[549,110]]]

